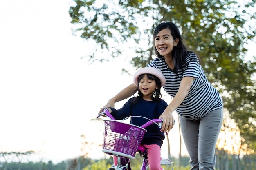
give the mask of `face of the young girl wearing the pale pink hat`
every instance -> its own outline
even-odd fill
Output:
[[[155,89],[158,89],[155,80],[148,79],[147,75],[145,74],[142,79],[139,81],[139,91],[143,94],[144,100],[151,101],[151,96]]]

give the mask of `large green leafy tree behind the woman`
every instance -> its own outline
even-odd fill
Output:
[[[76,33],[101,49],[86,56],[91,62],[125,57],[120,44],[132,42],[131,64],[144,67],[154,57],[155,26],[167,20],[177,24],[186,46],[200,55],[209,81],[221,93],[242,142],[256,150],[256,57],[245,60],[245,45],[256,41],[255,0],[73,1],[69,13]],[[109,55],[99,55],[103,51]]]

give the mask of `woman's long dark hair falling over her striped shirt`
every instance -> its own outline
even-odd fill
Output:
[[[178,73],[178,70],[180,69],[180,70],[182,70],[182,73],[183,73],[184,69],[186,68],[185,57],[186,57],[187,53],[193,52],[193,51],[187,50],[186,46],[183,43],[182,36],[180,35],[180,31],[175,24],[173,24],[172,22],[163,22],[163,23],[157,25],[157,27],[155,28],[154,33],[153,33],[154,50],[155,50],[155,55],[158,58],[163,58],[164,56],[160,55],[160,53],[157,51],[157,48],[155,47],[155,37],[163,29],[171,30],[171,35],[173,36],[173,40],[176,40],[176,38],[179,39],[179,43],[177,44],[177,46],[173,47],[173,51],[172,51],[173,63],[174,63],[173,72]]]

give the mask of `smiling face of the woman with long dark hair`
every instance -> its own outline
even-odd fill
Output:
[[[155,47],[160,55],[172,57],[173,47],[176,46],[179,40],[173,40],[170,29],[163,29],[155,36]]]

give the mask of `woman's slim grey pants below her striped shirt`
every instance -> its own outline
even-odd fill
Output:
[[[197,121],[180,117],[180,129],[189,153],[191,170],[214,170],[215,146],[223,120],[223,108]]]

